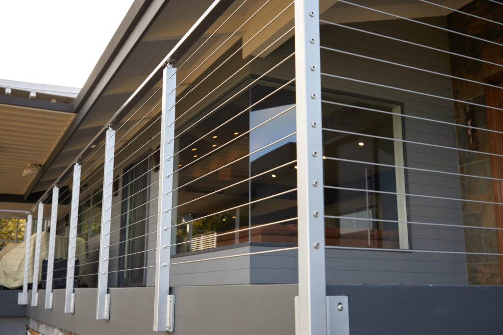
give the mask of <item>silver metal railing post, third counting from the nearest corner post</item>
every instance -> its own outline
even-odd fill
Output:
[[[105,163],[103,167],[103,201],[101,210],[100,258],[98,259],[98,296],[96,319],[110,318],[110,294],[108,293],[108,257],[110,248],[110,221],[112,217],[112,187],[114,183],[115,130],[108,128],[105,139]]]

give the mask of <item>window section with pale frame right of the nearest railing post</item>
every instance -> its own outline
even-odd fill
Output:
[[[328,92],[323,99],[324,183],[337,187],[325,189],[325,215],[334,217],[326,227],[339,235],[327,244],[407,249],[401,106]]]

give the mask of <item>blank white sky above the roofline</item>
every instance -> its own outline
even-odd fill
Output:
[[[0,0],[0,79],[82,87],[133,0]]]

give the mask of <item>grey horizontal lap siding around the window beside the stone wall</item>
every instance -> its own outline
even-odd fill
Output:
[[[443,18],[432,18],[428,21],[438,26],[445,25]],[[449,49],[445,33],[423,26],[411,26],[410,23],[396,20],[354,26],[444,50]],[[320,29],[322,46],[450,73],[449,57],[446,54],[328,25],[322,25]],[[292,46],[283,48],[290,50]],[[267,61],[263,60],[261,67],[256,66],[255,71],[266,71],[287,52],[278,50],[275,53],[277,55],[272,54]],[[321,72],[452,98],[451,80],[446,77],[331,51],[322,50],[321,57]],[[286,76],[285,69],[278,72],[275,77]],[[454,123],[454,103],[450,100],[327,76],[322,76],[322,87],[396,101],[403,103],[405,115]],[[403,119],[405,140],[456,147],[454,127],[412,118]],[[458,172],[456,150],[407,143],[404,143],[404,148],[406,166]],[[408,193],[461,197],[457,176],[412,170],[406,170],[406,176]],[[460,201],[410,196],[407,197],[407,210],[410,221],[463,225]],[[409,236],[412,249],[464,252],[462,228],[412,224],[409,225]],[[251,260],[251,282],[280,282],[279,280],[285,280],[281,275],[278,277],[282,272],[291,273],[290,281],[284,282],[295,282],[295,260],[295,256],[283,256],[283,253],[274,256],[261,255],[260,258],[255,256]],[[467,283],[464,255],[334,249],[326,250],[326,278],[328,283]]]

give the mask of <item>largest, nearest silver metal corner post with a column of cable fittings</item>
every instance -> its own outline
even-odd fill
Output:
[[[327,333],[318,1],[295,0],[297,201],[302,335]]]

